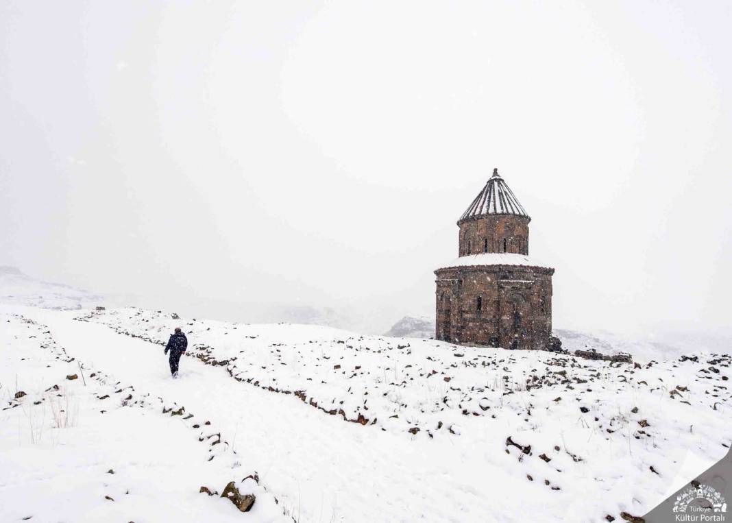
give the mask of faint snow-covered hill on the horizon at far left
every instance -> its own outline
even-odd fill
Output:
[[[81,289],[31,278],[17,267],[0,267],[0,303],[78,309],[99,305],[102,300],[102,297]]]

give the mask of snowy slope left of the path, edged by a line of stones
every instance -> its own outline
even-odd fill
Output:
[[[197,412],[86,366],[48,327],[0,314],[0,521],[292,522]],[[69,378],[74,379],[69,379]],[[167,411],[167,412],[166,412]]]

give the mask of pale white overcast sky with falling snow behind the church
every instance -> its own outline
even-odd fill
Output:
[[[555,327],[727,327],[731,6],[4,1],[0,264],[383,330],[498,167]]]

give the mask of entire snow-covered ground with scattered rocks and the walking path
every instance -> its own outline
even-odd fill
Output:
[[[54,448],[54,459],[81,454],[80,461],[99,464],[102,483],[108,468],[131,470],[125,472],[130,481],[122,482],[127,489],[137,478],[130,461],[145,459],[132,457],[145,452],[135,450],[143,447],[146,436],[141,434],[155,431],[165,434],[168,446],[184,445],[179,439],[203,434],[192,429],[193,422],[200,426],[201,418],[210,420],[227,442],[216,445],[216,459],[206,461],[211,446],[194,439],[193,447],[203,450],[183,452],[185,461],[161,458],[147,483],[140,479],[151,503],[163,500],[164,506],[176,498],[192,507],[187,514],[194,508],[212,511],[205,518],[198,512],[199,519],[224,520],[217,516],[220,511],[251,521],[294,516],[299,522],[619,519],[622,511],[649,511],[720,459],[732,442],[730,356],[694,347],[688,351],[691,360],[673,355],[667,360],[636,358],[629,365],[362,336],[313,325],[173,319],[134,308],[102,313],[0,310],[48,326],[39,328],[50,331],[46,336],[63,346],[68,358],[76,358],[51,368],[81,362],[89,371],[103,370],[113,387],[117,382],[134,387],[133,401],[137,395],[146,401],[144,408],[116,407],[78,418],[74,434],[88,434],[73,442],[64,439]],[[171,380],[162,344],[178,325],[189,337],[190,357],[182,360],[182,379]],[[18,324],[23,326],[29,328]],[[42,359],[46,352],[40,347],[51,341],[43,340],[20,335],[0,344],[0,356],[11,369],[1,378],[3,391],[15,387],[12,374],[34,376],[25,366],[50,372],[45,364],[51,362]],[[59,376],[67,371],[72,369],[59,368]],[[31,379],[35,393],[45,390],[49,380],[45,374]],[[80,387],[78,380],[69,384]],[[89,402],[102,403],[96,399],[101,393]],[[108,394],[119,405],[125,393]],[[15,402],[5,399],[9,405]],[[27,406],[30,399],[20,401]],[[163,416],[163,406],[183,406],[195,418]],[[80,409],[94,410],[83,404]],[[20,407],[0,413],[14,416],[17,420],[9,419],[18,425],[24,419]],[[104,426],[97,418],[121,421]],[[88,425],[96,426],[96,432]],[[105,431],[113,434],[102,436]],[[46,432],[56,433],[68,431]],[[17,427],[0,434],[0,459],[7,464],[0,467],[0,501],[4,507],[12,500],[15,517],[36,505],[12,492],[28,490],[35,478],[53,476],[53,468],[43,465],[42,445],[18,437]],[[109,442],[90,450],[92,457],[80,450],[89,434]],[[119,450],[128,448],[125,437],[138,441],[130,456]],[[27,457],[16,458],[23,453]],[[117,461],[107,465],[111,458],[105,461],[105,456]],[[151,454],[149,459],[156,458]],[[26,462],[37,468],[29,470]],[[168,470],[172,462],[179,466]],[[240,514],[225,500],[198,494],[201,485],[221,491],[226,481],[240,481],[252,472],[258,473],[256,488],[261,489],[255,507],[260,497],[278,500],[267,511]],[[175,476],[175,495],[165,490],[168,474]],[[116,494],[109,494],[115,502]],[[94,505],[100,511],[112,510],[103,496],[95,502],[101,503]],[[132,521],[157,521],[137,517]]]

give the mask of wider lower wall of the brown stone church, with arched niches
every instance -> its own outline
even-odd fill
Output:
[[[436,270],[436,338],[545,349],[551,335],[553,273],[545,267],[509,265]]]

